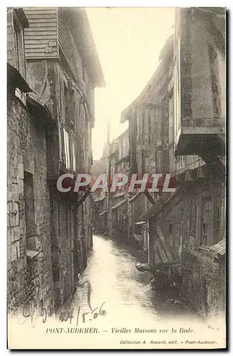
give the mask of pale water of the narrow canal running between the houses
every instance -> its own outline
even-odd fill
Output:
[[[150,288],[150,273],[135,268],[140,256],[136,248],[118,239],[93,236],[88,267],[73,298],[73,306],[80,308],[78,325],[108,330],[109,326],[155,326],[171,318],[191,321],[190,310]]]

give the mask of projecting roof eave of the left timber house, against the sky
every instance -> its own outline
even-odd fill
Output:
[[[68,15],[69,28],[78,46],[81,58],[85,60],[86,70],[91,80],[95,86],[104,87],[105,79],[103,70],[93,40],[86,9],[81,7],[62,7],[61,9]]]

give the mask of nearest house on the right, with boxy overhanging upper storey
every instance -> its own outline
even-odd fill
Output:
[[[224,33],[222,9],[177,10],[168,113],[176,190],[141,216],[151,267],[179,266],[182,293],[205,318],[224,310]]]

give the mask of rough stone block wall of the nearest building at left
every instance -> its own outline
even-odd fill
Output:
[[[51,313],[53,278],[45,132],[40,120],[32,119],[18,98],[9,98],[7,119],[9,309],[42,302]],[[26,241],[24,172],[33,175],[34,239],[38,250],[33,258]]]

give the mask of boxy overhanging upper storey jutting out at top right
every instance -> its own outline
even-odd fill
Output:
[[[225,9],[177,9],[174,130],[177,155],[222,154],[225,132]]]

